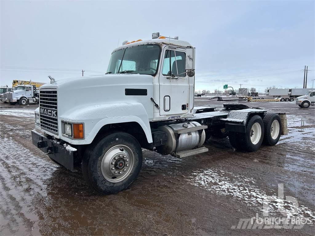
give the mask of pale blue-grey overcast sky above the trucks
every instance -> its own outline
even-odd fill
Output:
[[[314,9],[314,1],[1,0],[0,85],[99,74],[124,40],[160,32],[196,47],[196,90],[303,87],[304,65],[312,87]]]

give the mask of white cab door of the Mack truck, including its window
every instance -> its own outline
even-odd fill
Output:
[[[185,73],[186,50],[166,47],[159,74],[160,115],[185,114],[189,110],[189,77]]]

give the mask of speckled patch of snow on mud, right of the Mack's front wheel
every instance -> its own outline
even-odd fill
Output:
[[[231,178],[232,177],[232,178]],[[265,191],[253,185],[255,180],[241,176],[232,176],[224,171],[216,169],[198,170],[188,177],[192,185],[202,187],[216,194],[230,195],[238,200],[245,201],[247,205],[261,206],[263,210],[264,201],[268,202],[269,213],[281,211],[287,214],[287,217],[311,217],[315,222],[314,213],[303,205],[296,207],[294,202],[287,199],[281,199],[276,195],[268,196]],[[273,198],[273,201],[269,199]],[[292,213],[293,212],[293,213]]]

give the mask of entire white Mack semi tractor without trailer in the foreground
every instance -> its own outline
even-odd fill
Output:
[[[252,152],[287,134],[285,113],[235,103],[194,108],[194,85],[190,43],[159,33],[124,42],[105,75],[51,78],[40,87],[33,144],[70,171],[82,168],[91,188],[112,194],[137,178],[141,148],[183,158],[207,152],[210,136],[228,136],[233,148]]]

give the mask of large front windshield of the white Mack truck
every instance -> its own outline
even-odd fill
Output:
[[[106,73],[155,75],[159,56],[160,47],[154,44],[125,48],[112,53]]]

